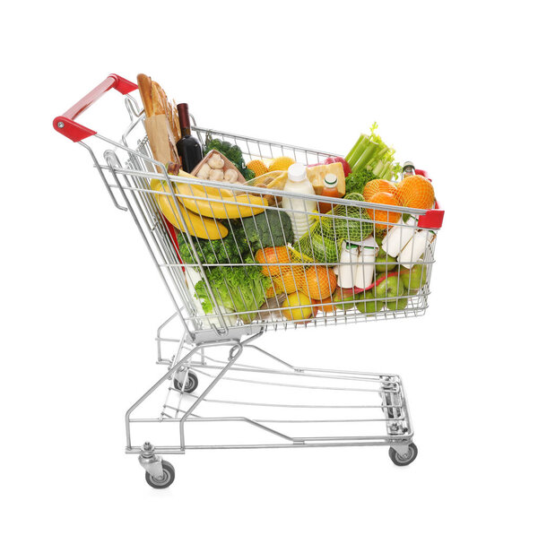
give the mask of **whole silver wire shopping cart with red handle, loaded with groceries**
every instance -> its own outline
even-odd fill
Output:
[[[119,141],[74,120],[112,88],[125,95],[128,114]],[[256,341],[270,329],[423,315],[443,211],[331,199],[333,210],[320,214],[308,203],[318,201],[318,196],[239,183],[221,183],[215,194],[213,182],[174,176],[153,160],[143,110],[129,95],[135,89],[134,83],[111,74],[56,117],[54,128],[89,151],[114,205],[132,215],[174,306],[173,314],[157,331],[157,362],[167,368],[166,373],[126,412],[126,453],[138,454],[147,482],[154,488],[169,487],[174,468],[161,455],[194,449],[386,445],[396,465],[413,462],[417,448],[412,443],[412,422],[398,375],[297,367],[260,348]],[[312,164],[334,156],[210,130],[195,125],[194,117],[192,120],[200,142],[221,139],[237,144],[246,160],[287,155]],[[89,138],[92,147],[83,141]],[[102,159],[98,144],[104,148]],[[292,247],[282,246],[273,236],[281,236],[280,229],[273,227],[269,231],[273,243],[254,250],[245,240],[247,220],[257,229],[260,220],[256,217],[262,213],[263,218],[271,217],[283,227],[289,217],[282,208],[286,196],[295,199],[291,211],[308,214],[307,236]],[[299,209],[298,199],[304,203]],[[351,261],[344,262],[343,255],[339,262],[334,252],[338,256],[346,243],[372,235],[377,223],[382,228],[389,211],[401,214],[393,228],[412,228],[412,247],[420,232],[429,233],[425,245],[421,244],[420,258],[414,255],[407,264],[387,262],[381,270],[372,260],[380,282],[376,280],[368,291],[338,288],[323,298],[327,285],[331,292],[334,289],[335,273],[341,276],[345,269],[357,269]],[[227,218],[228,214],[233,217]],[[193,232],[181,231],[195,226]],[[204,232],[211,241],[200,237]],[[225,258],[214,251],[217,247]],[[276,259],[269,255],[272,249],[280,252]],[[361,266],[363,271],[372,269],[364,260]],[[256,272],[267,276],[258,277]],[[237,279],[226,284],[230,273],[240,273],[243,280],[252,273],[255,277],[250,286],[238,291],[242,282]],[[391,277],[394,280],[379,289]],[[217,278],[224,283],[219,288]],[[290,296],[295,290],[306,295],[308,302],[293,301]],[[148,441],[150,434],[152,442]],[[156,442],[161,445],[154,445]]]

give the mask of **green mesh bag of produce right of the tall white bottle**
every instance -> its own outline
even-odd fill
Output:
[[[364,202],[361,194],[348,194],[344,198]],[[339,204],[326,215],[320,215],[293,247],[317,262],[337,263],[343,241],[360,242],[373,231],[374,223],[366,209]]]

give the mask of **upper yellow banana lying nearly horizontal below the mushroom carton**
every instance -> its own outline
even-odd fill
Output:
[[[221,198],[220,195],[209,194],[204,188],[199,188],[190,184],[176,183],[176,190],[181,196],[181,202],[190,211],[195,211],[200,215],[217,219],[235,220],[247,218],[265,210],[269,203],[258,195],[240,194]],[[195,199],[188,199],[196,197]],[[248,204],[243,206],[239,203]]]

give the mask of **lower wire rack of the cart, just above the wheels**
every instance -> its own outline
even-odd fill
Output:
[[[182,344],[169,372],[127,412],[127,453],[140,453],[150,433],[159,438],[154,453],[353,445],[407,451],[412,422],[398,375],[294,367],[254,345],[256,337],[230,341],[224,358],[222,342],[190,350]]]

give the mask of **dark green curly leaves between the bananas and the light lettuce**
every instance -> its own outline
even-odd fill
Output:
[[[202,263],[244,263],[250,254],[247,237],[241,227],[230,226],[228,236],[221,239],[202,239],[193,237],[195,250]],[[178,237],[179,256],[184,263],[196,263],[188,238],[179,230]]]

